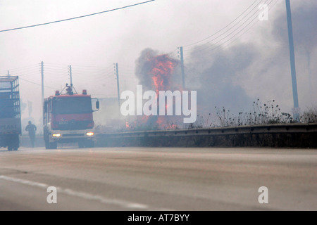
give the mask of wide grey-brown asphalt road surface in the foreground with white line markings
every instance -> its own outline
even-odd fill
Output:
[[[0,210],[317,210],[316,149],[3,149]]]

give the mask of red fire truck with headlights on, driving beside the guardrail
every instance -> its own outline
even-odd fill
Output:
[[[55,96],[44,99],[43,131],[46,149],[57,148],[57,143],[77,142],[80,148],[94,147],[94,120],[92,113],[99,110],[97,98],[87,91],[77,94],[73,84],[66,84]],[[96,110],[92,108],[96,103]]]

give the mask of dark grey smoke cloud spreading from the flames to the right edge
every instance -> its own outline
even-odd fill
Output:
[[[292,4],[292,27],[297,70],[299,106],[302,110],[316,105],[317,72],[317,2]],[[185,57],[185,89],[197,91],[197,113],[215,115],[217,108],[231,113],[249,112],[252,103],[275,100],[282,111],[291,113],[293,107],[290,52],[288,46],[285,5],[277,11],[268,30],[261,32],[263,43],[240,43],[228,47],[196,46]],[[256,43],[257,42],[257,43]],[[188,54],[188,51],[185,52]],[[139,83],[153,89],[148,76],[149,58],[158,52],[145,49],[137,60],[136,75]],[[181,74],[178,63],[170,79],[171,86],[180,87]]]

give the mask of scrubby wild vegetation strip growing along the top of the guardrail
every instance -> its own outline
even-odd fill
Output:
[[[215,107],[216,113],[207,115],[197,115],[196,122],[186,124],[185,127],[174,118],[168,118],[165,122],[157,123],[157,117],[150,120],[144,120],[139,117],[132,121],[125,118],[116,120],[111,126],[97,126],[98,133],[126,132],[126,131],[154,131],[154,130],[170,130],[170,129],[197,129],[210,127],[239,127],[261,124],[292,124],[303,123],[309,124],[317,122],[317,107],[311,107],[299,114],[299,121],[294,120],[291,113],[284,113],[280,109],[280,105],[275,100],[261,103],[259,99],[253,102],[249,112],[231,113],[225,107]],[[153,120],[154,119],[154,120]]]

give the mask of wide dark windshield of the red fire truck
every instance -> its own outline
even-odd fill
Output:
[[[92,113],[92,101],[87,97],[55,98],[53,104],[57,114]]]

